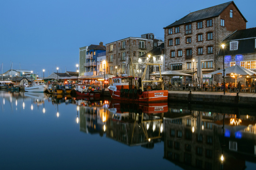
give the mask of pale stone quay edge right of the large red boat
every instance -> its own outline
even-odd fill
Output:
[[[168,90],[168,93],[170,94],[188,94],[189,91],[185,91],[185,90],[181,90],[181,91],[176,91],[176,90]],[[204,91],[204,92],[199,92],[199,91],[191,91],[192,94],[205,94],[205,95],[217,95],[217,96],[221,96],[224,95],[223,92],[208,92],[208,91]],[[225,96],[236,96],[237,93],[236,92],[225,92]],[[238,93],[239,96],[241,97],[255,97],[256,98],[256,93]]]

